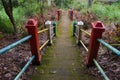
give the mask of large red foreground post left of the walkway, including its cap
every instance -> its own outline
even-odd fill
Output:
[[[39,51],[39,42],[38,42],[38,22],[34,19],[29,19],[26,28],[28,30],[29,35],[32,35],[30,39],[30,48],[32,55],[35,55],[35,59],[33,60],[33,64],[40,64],[42,55]]]

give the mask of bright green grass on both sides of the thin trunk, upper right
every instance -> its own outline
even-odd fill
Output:
[[[106,22],[120,21],[120,2],[116,2],[111,5],[95,2],[92,4],[92,8],[87,8],[87,2],[75,2],[73,6],[81,13],[86,13],[86,11],[90,11],[94,15],[96,15],[98,19]]]

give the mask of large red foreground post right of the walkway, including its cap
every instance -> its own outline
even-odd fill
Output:
[[[105,27],[100,21],[92,23],[92,33],[90,37],[90,44],[89,44],[88,55],[86,60],[87,66],[92,66],[93,59],[97,58],[98,49],[100,45],[97,39],[102,38],[102,33],[104,31],[105,31]]]

